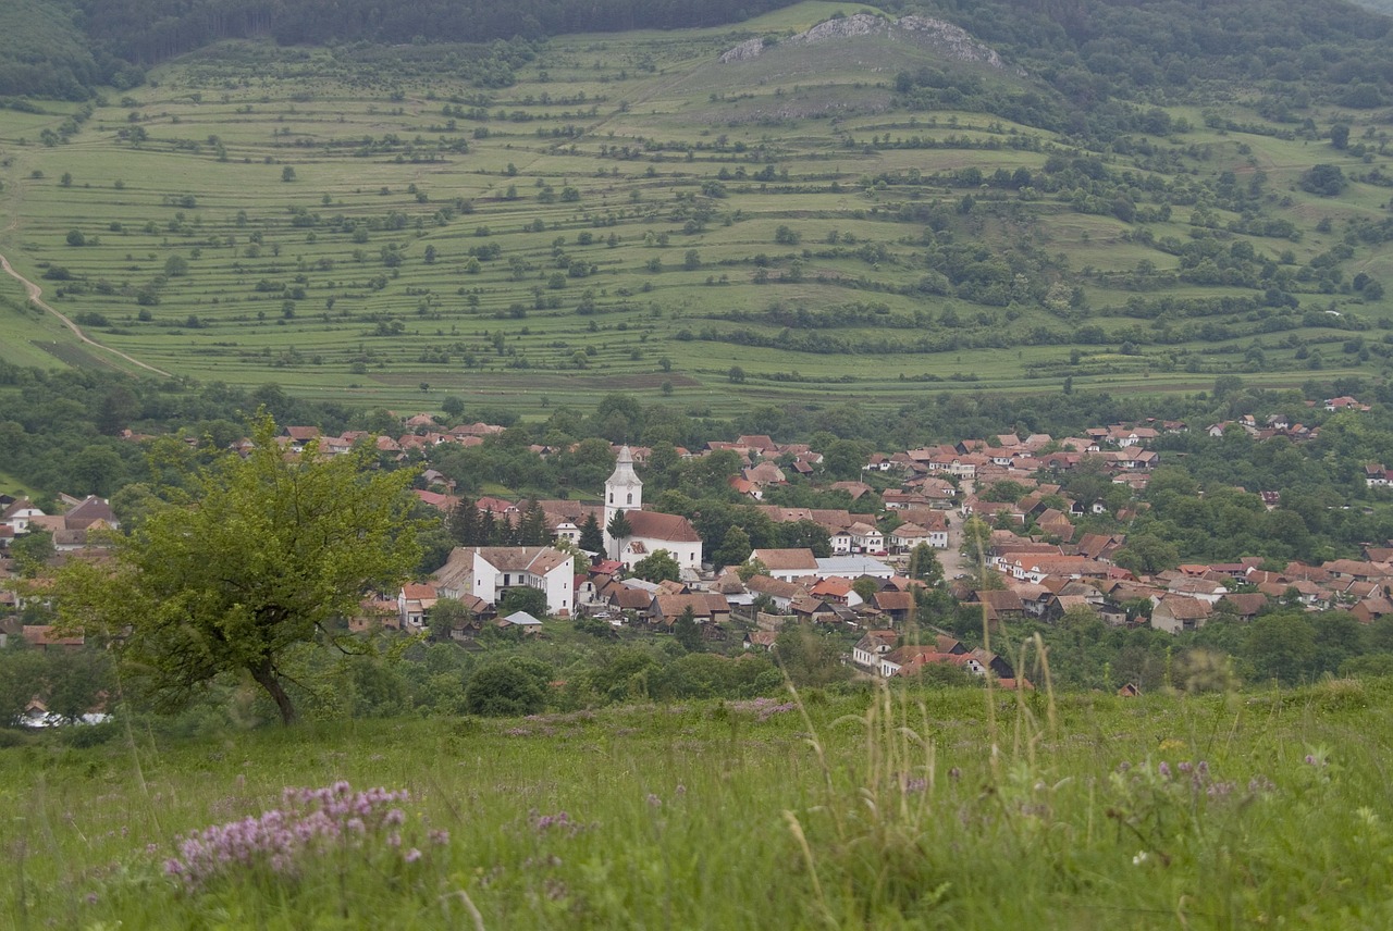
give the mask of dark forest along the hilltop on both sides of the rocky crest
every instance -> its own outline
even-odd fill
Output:
[[[141,68],[234,38],[280,45],[488,43],[577,32],[736,24],[790,0],[11,0],[0,11],[0,96],[81,97]],[[1043,77],[1080,114],[1215,81],[1272,79],[1350,107],[1393,96],[1386,15],[1341,0],[880,0],[965,28]],[[921,86],[939,83],[924,75]],[[942,90],[921,95],[922,102]],[[1024,102],[1050,109],[1050,103]],[[1013,118],[1018,118],[1017,114]],[[1052,120],[1055,117],[1050,117]],[[1082,117],[1080,117],[1082,118]],[[1088,122],[1088,120],[1084,120]],[[1081,127],[1082,128],[1082,127]]]

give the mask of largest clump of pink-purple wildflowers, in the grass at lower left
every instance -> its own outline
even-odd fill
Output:
[[[396,806],[407,799],[404,789],[354,792],[343,781],[320,789],[286,789],[280,809],[191,834],[180,845],[180,856],[166,860],[164,873],[201,889],[238,870],[267,868],[291,877],[305,857],[323,848],[357,846],[371,835],[384,834],[390,846],[400,846],[396,828],[405,815]]]

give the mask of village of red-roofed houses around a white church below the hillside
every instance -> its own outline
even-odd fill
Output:
[[[1326,412],[1368,411],[1354,398],[1321,402]],[[288,426],[277,441],[287,455],[333,456],[369,443],[386,462],[418,468],[415,495],[426,512],[458,529],[443,561],[396,591],[373,593],[354,632],[387,630],[475,647],[486,629],[546,636],[549,621],[599,625],[616,636],[671,635],[681,628],[715,651],[772,650],[788,626],[836,632],[844,662],[858,675],[893,678],[933,665],[1018,682],[1011,664],[953,636],[946,619],[970,614],[988,630],[1018,621],[1057,623],[1091,618],[1114,628],[1185,633],[1208,623],[1244,623],[1273,608],[1341,608],[1361,623],[1393,614],[1393,546],[1367,546],[1361,558],[1319,564],[1231,554],[1222,562],[1139,566],[1127,554],[1128,526],[1148,509],[1145,491],[1162,465],[1162,437],[1183,422],[1113,423],[1078,436],[1014,433],[950,444],[873,452],[855,480],[826,480],[823,454],[808,444],[740,436],[702,449],[676,448],[692,461],[726,454],[729,497],[805,546],[752,546],[703,539],[694,520],[645,501],[641,472],[653,449],[612,445],[614,468],[603,488],[564,500],[469,498],[432,468],[432,454],[483,447],[504,427],[485,423],[442,430],[429,415],[404,422],[397,437],[326,437]],[[1304,443],[1319,427],[1289,417],[1244,416],[1201,427],[1208,436],[1241,431],[1254,441]],[[130,437],[141,441],[142,437]],[[234,444],[245,452],[247,441]],[[536,456],[557,451],[529,448]],[[1088,475],[1087,495],[1067,491]],[[1389,475],[1365,466],[1369,488]],[[766,502],[798,483],[837,493],[844,508]],[[1252,490],[1265,508],[1277,495]],[[869,504],[871,507],[865,507]],[[60,514],[28,498],[0,495],[0,552],[10,580],[0,590],[0,644],[18,637],[40,648],[78,648],[84,637],[56,633],[46,605],[61,591],[49,569],[74,558],[102,558],[103,529],[120,520],[109,501],[61,497]],[[524,527],[528,527],[524,530]],[[510,533],[497,533],[507,529]],[[468,539],[469,536],[474,539]],[[460,539],[464,537],[464,539]],[[524,540],[524,537],[528,537]],[[508,543],[500,543],[508,540]],[[1126,564],[1126,565],[1124,565]],[[1149,569],[1149,571],[1146,571]],[[943,596],[947,596],[944,600]],[[35,714],[42,717],[42,708]]]

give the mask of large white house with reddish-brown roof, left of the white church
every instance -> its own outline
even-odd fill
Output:
[[[432,573],[439,597],[476,596],[497,604],[508,589],[538,589],[546,610],[568,616],[575,608],[575,565],[570,552],[552,547],[456,547]]]

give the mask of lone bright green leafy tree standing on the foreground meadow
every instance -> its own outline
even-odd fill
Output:
[[[372,452],[298,456],[276,424],[251,422],[255,448],[184,476],[189,493],[114,541],[104,565],[72,562],[57,590],[70,629],[104,633],[124,665],[166,706],[224,674],[247,674],[276,701],[297,647],[348,648],[333,629],[369,589],[396,587],[419,558],[410,470],[372,468]]]

